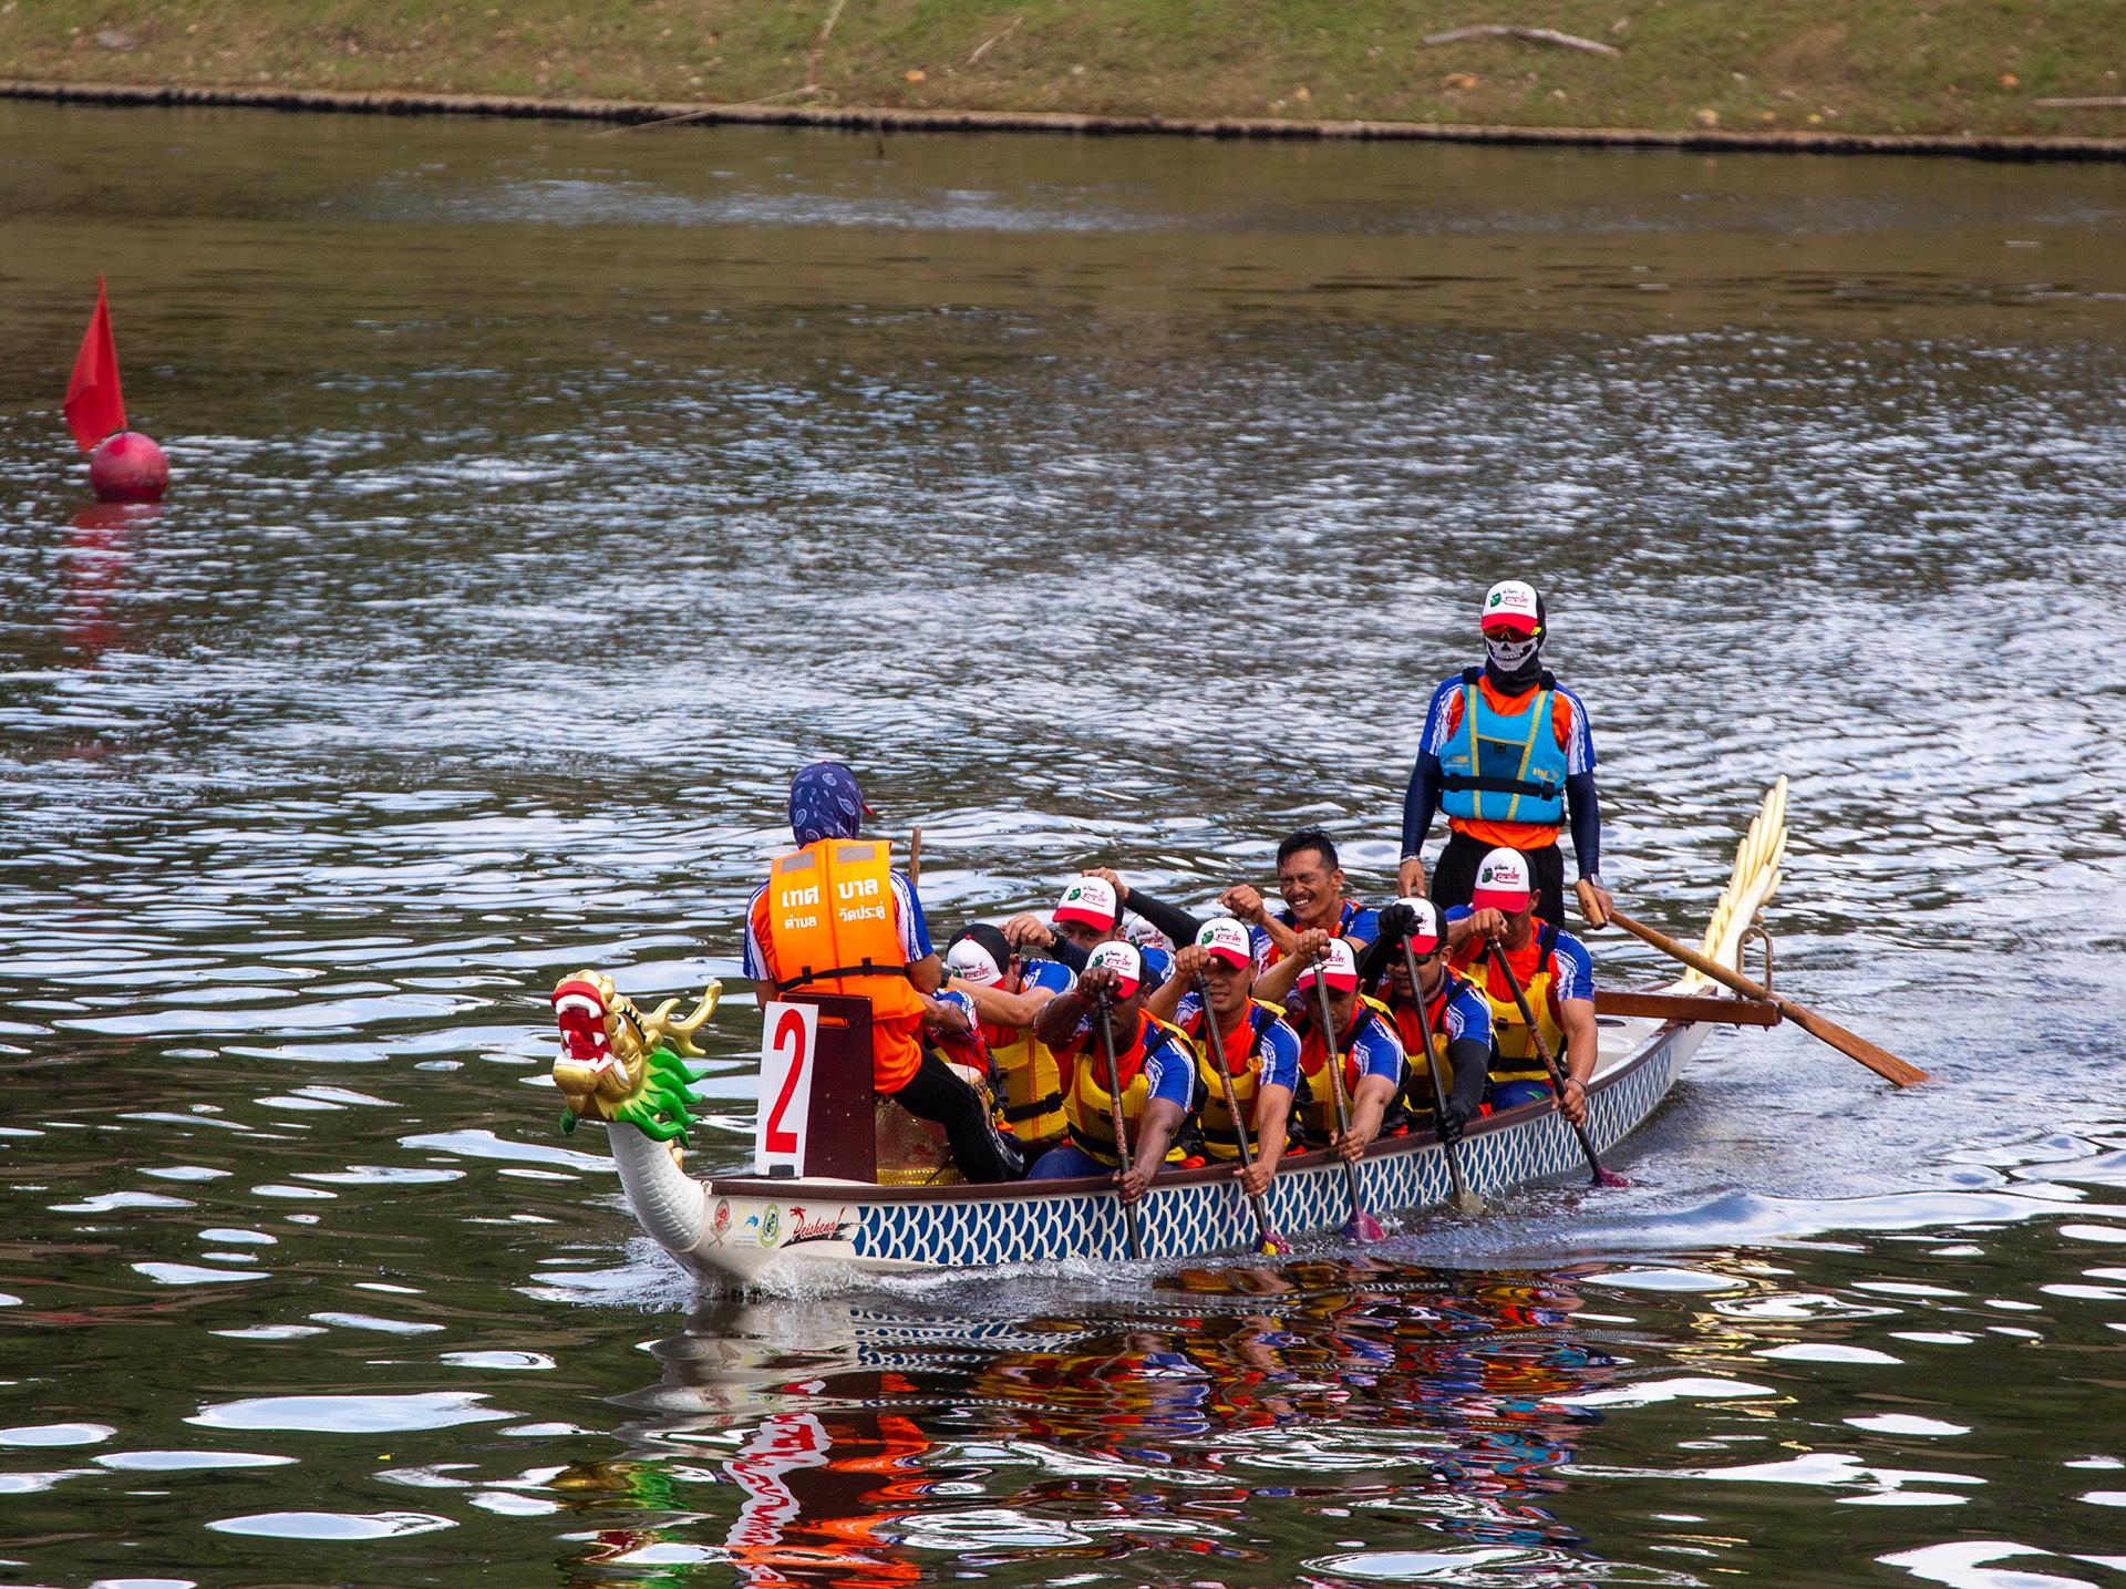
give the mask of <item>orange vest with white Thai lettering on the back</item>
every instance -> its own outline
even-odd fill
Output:
[[[925,1010],[908,981],[891,866],[887,844],[867,838],[821,838],[776,855],[761,940],[778,996],[804,987],[872,1002],[872,1087],[882,1093],[897,1093],[923,1066]]]

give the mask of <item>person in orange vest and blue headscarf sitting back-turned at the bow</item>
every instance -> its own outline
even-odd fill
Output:
[[[744,974],[765,996],[848,993],[872,1002],[872,1087],[935,1121],[967,1181],[1016,1181],[1018,1149],[997,1134],[982,1095],[923,1047],[923,1025],[965,1032],[957,1000],[940,1000],[944,966],[923,904],[882,840],[863,840],[857,774],[816,762],[791,779],[791,838],[746,906]],[[765,998],[763,998],[765,1002]]]

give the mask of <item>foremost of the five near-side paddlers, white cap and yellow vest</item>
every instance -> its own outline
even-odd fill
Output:
[[[1029,1181],[1054,1181],[1120,1170],[1123,1202],[1135,1202],[1167,1159],[1180,1159],[1174,1138],[1195,1113],[1201,1083],[1188,1038],[1144,1013],[1144,957],[1135,944],[1103,942],[1078,985],[1057,993],[1033,1021],[1063,1066],[1063,1119],[1069,1142],[1050,1149]],[[1101,1019],[1106,1013],[1106,1021]],[[1125,1168],[1114,1140],[1114,1093],[1108,1087],[1108,1036],[1114,1038],[1114,1085],[1123,1093],[1129,1132]]]

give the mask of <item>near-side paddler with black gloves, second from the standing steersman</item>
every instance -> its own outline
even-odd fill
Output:
[[[1403,944],[1418,964],[1418,996],[1431,1023],[1433,1053],[1448,1078],[1446,1108],[1435,1108],[1433,1068],[1424,1061],[1424,1025],[1410,991]],[[1458,1142],[1484,1106],[1490,1072],[1490,1004],[1448,970],[1446,923],[1431,900],[1397,900],[1380,913],[1380,938],[1359,959],[1359,987],[1378,987],[1407,1055],[1403,1100],[1414,1123]],[[1509,996],[1512,998],[1512,996]]]

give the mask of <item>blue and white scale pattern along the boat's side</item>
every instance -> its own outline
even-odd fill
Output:
[[[1599,1151],[1620,1142],[1654,1113],[1701,1034],[1703,1027],[1667,1034],[1641,1064],[1594,1091],[1588,1100],[1588,1136]],[[1478,1132],[1465,1138],[1461,1157],[1463,1176],[1473,1191],[1501,1191],[1586,1166],[1577,1138],[1556,1113]],[[1359,1185],[1376,1215],[1446,1202],[1446,1155],[1429,1144],[1367,1159],[1359,1166]],[[1146,1257],[1254,1247],[1254,1217],[1231,1183],[1154,1187],[1142,1210]],[[1282,1172],[1269,1187],[1269,1221],[1286,1236],[1333,1232],[1348,1217],[1350,1195],[1333,1164]],[[1129,1257],[1129,1230],[1123,1206],[1110,1193],[876,1202],[863,1204],[855,1247],[859,1257],[933,1268],[1063,1257],[1118,1261]]]

